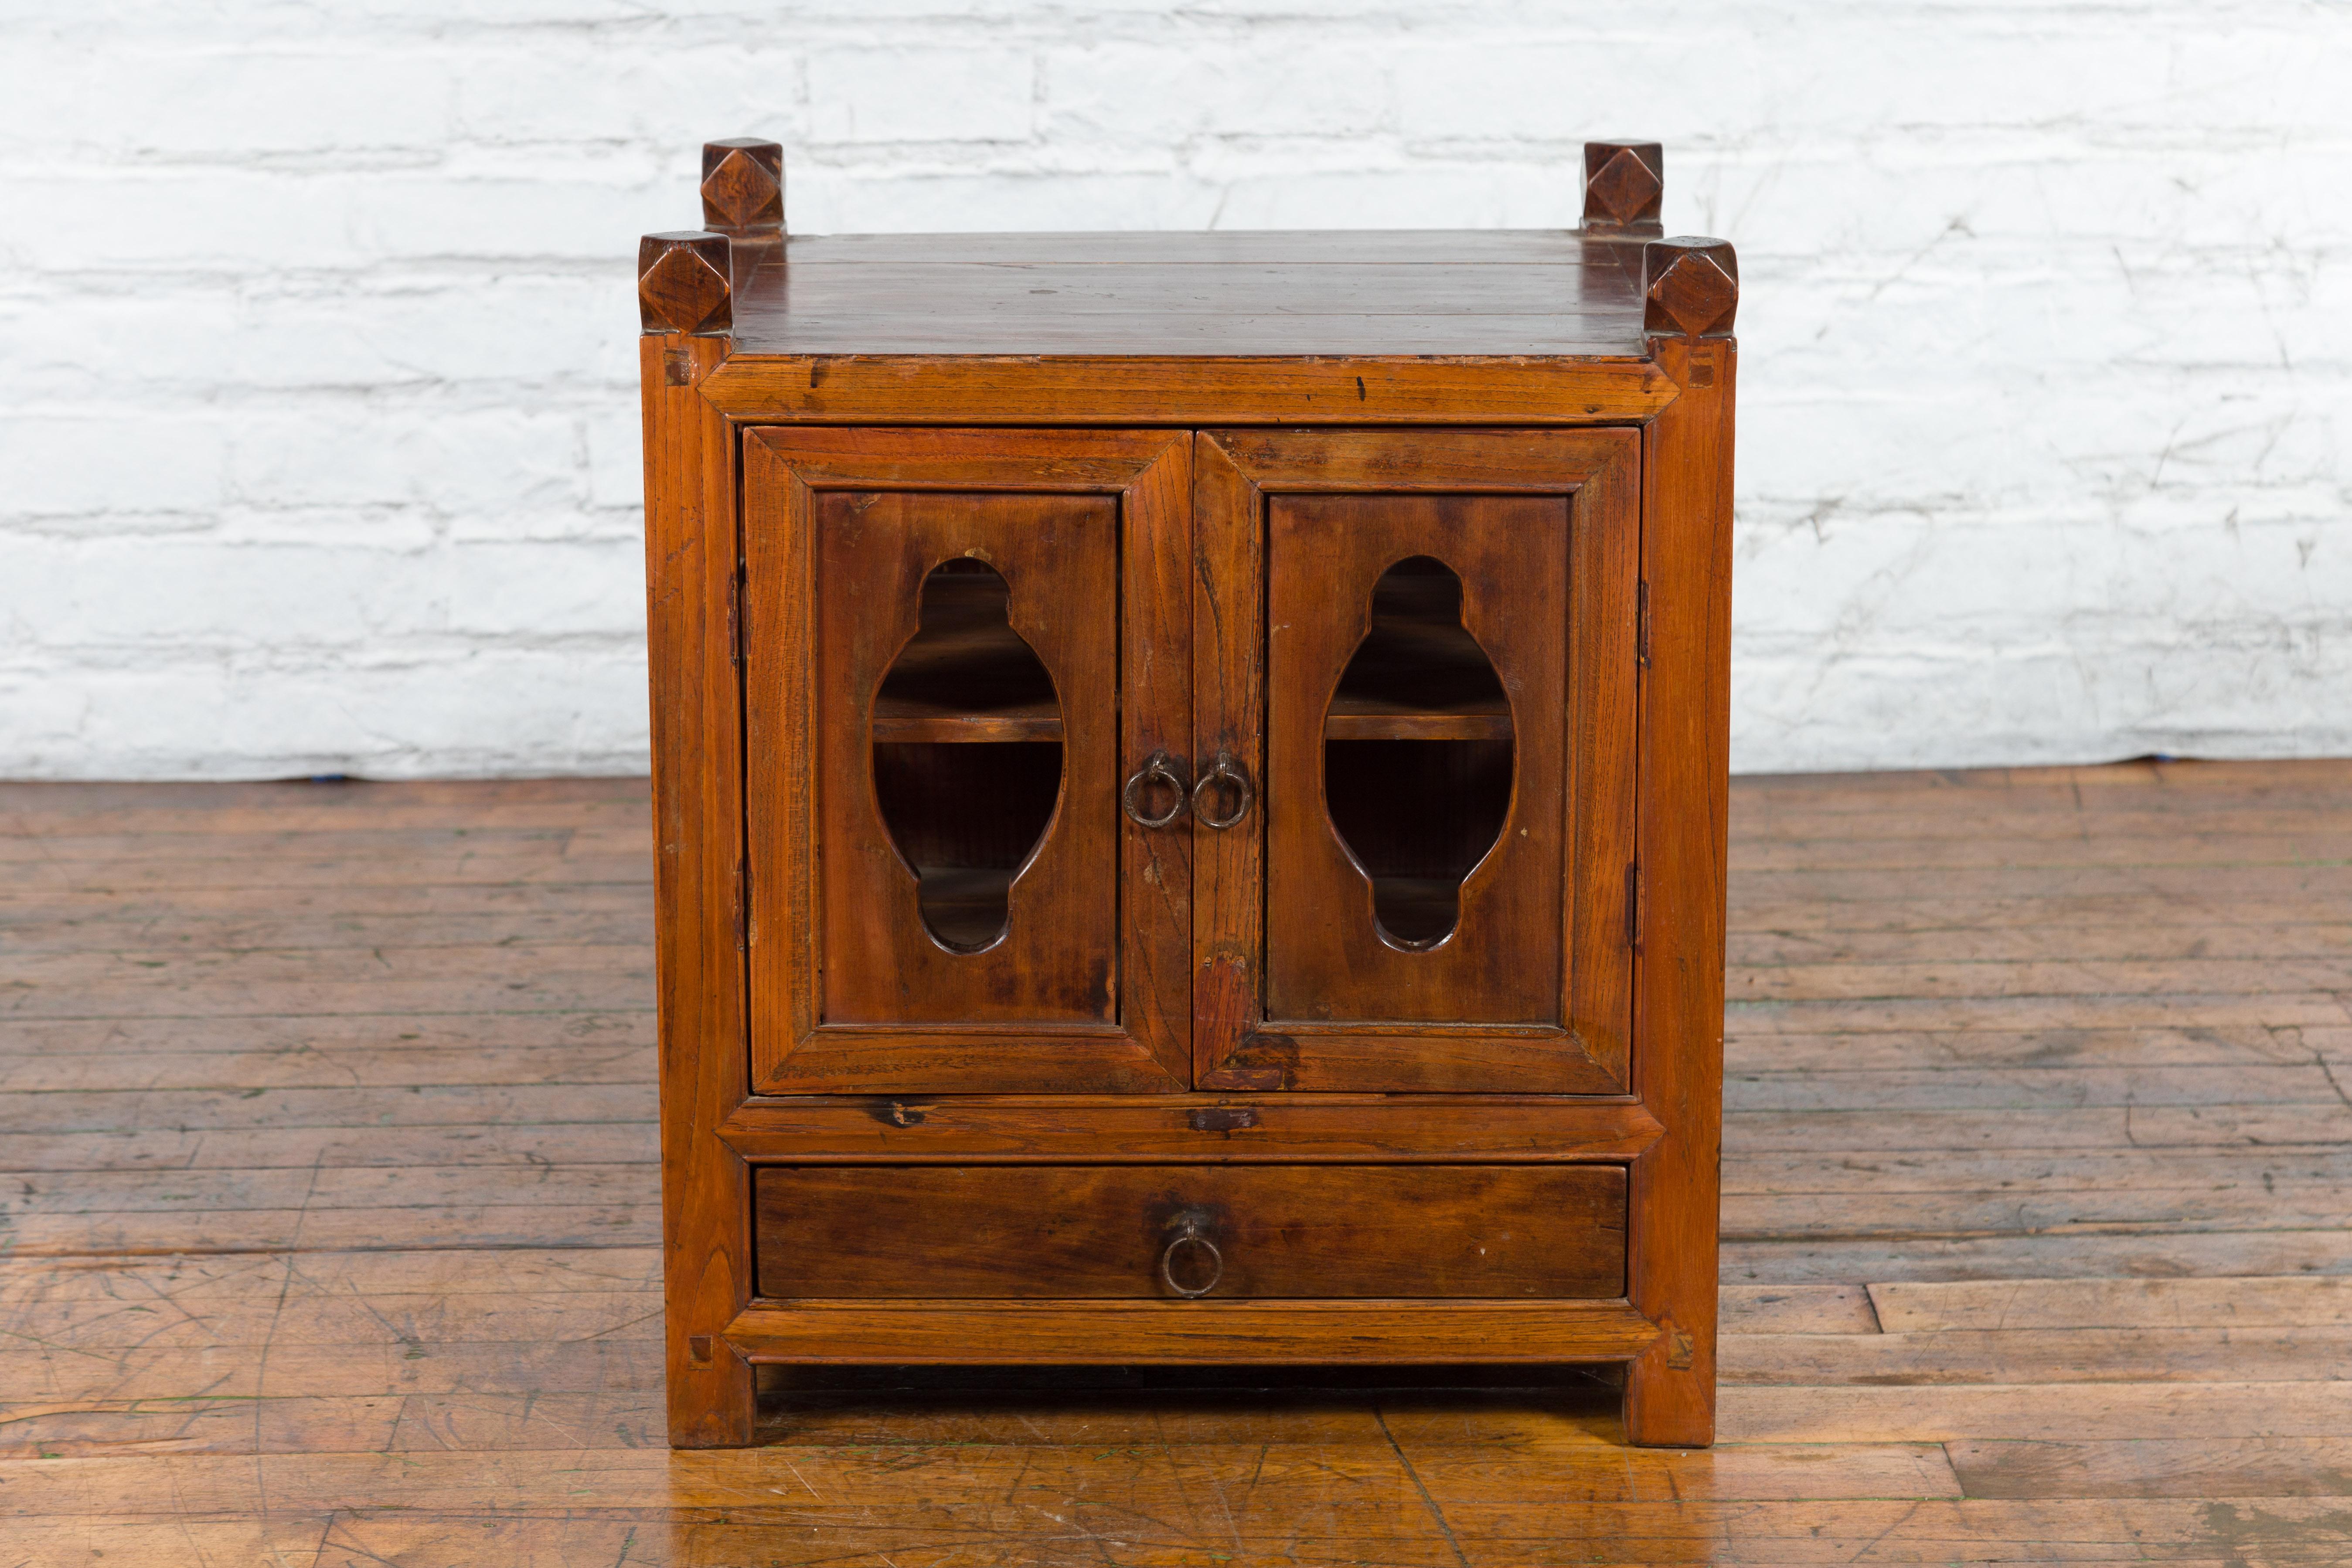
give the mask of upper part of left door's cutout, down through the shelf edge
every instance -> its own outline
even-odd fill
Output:
[[[875,741],[1061,741],[1054,677],[1004,621],[997,574],[931,574],[922,632],[873,712]]]

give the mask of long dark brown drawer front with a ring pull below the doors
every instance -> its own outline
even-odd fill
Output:
[[[767,1166],[764,1298],[1616,1298],[1623,1166]]]

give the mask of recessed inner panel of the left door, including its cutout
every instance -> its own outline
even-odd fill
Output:
[[[1120,508],[816,503],[821,1023],[1117,1020]]]

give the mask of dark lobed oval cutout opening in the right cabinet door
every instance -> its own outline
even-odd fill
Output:
[[[1461,926],[1461,889],[1510,816],[1510,698],[1463,625],[1463,583],[1414,555],[1381,574],[1371,625],[1324,715],[1324,809],[1404,952]]]

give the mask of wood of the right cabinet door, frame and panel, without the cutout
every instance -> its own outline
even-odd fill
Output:
[[[1637,451],[1630,430],[1202,433],[1197,750],[1263,771],[1268,811],[1200,849],[1197,1084],[1628,1088]],[[1414,557],[1461,578],[1512,762],[1461,926],[1399,952],[1324,743],[1374,581]]]

